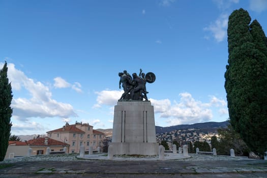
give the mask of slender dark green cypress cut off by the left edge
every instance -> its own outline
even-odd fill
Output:
[[[10,137],[12,109],[10,107],[13,98],[11,83],[8,81],[7,62],[0,71],[0,161],[3,161],[8,149]]]

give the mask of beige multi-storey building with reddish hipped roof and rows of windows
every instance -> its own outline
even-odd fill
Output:
[[[49,138],[65,142],[70,145],[69,153],[79,153],[80,146],[84,145],[85,151],[93,146],[93,150],[103,146],[105,134],[93,129],[89,124],[75,123],[69,125],[66,123],[60,129],[46,132]]]

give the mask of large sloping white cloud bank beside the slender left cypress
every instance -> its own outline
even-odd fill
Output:
[[[20,90],[23,87],[31,95],[31,98],[13,97],[11,107],[13,108],[13,116],[18,120],[27,120],[29,117],[58,116],[68,118],[77,115],[73,111],[72,105],[53,100],[48,86],[28,78],[12,63],[8,64],[8,77],[13,90]]]

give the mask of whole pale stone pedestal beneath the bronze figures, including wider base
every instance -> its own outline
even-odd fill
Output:
[[[119,101],[114,108],[114,155],[158,155],[154,107],[146,101]]]

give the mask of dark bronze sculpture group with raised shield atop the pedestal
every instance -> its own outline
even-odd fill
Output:
[[[118,76],[120,77],[119,88],[121,89],[121,84],[123,86],[124,93],[118,101],[149,101],[146,94],[149,92],[146,91],[145,84],[146,82],[153,83],[156,80],[154,73],[149,72],[146,75],[142,73],[140,69],[139,76],[136,73],[133,73],[132,76],[125,70],[119,72]]]

